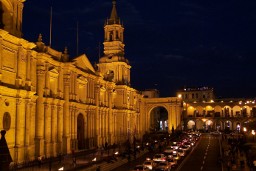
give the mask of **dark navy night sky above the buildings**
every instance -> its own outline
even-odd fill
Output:
[[[52,6],[52,48],[67,46],[76,57],[78,25],[78,54],[98,62],[111,0],[24,4],[25,39],[36,42],[42,33],[49,45]],[[156,88],[164,97],[184,86],[209,86],[219,98],[256,97],[256,1],[117,0],[117,13],[135,89]]]

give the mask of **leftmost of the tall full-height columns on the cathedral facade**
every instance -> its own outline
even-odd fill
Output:
[[[44,153],[44,84],[45,68],[43,65],[37,66],[37,103],[35,116],[35,157]]]

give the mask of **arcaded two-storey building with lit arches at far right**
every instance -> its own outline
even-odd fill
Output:
[[[254,99],[216,99],[213,88],[184,88],[177,92],[183,101],[183,126],[197,130],[237,130],[256,117]]]

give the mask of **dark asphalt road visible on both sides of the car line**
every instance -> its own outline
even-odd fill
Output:
[[[172,171],[221,171],[218,163],[220,144],[218,135],[202,134],[200,140],[192,151]],[[131,171],[136,165],[142,164],[147,157],[152,158],[154,153],[144,156],[122,165],[112,171]]]

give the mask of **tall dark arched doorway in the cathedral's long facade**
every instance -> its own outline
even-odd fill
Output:
[[[84,138],[84,116],[80,113],[77,116],[77,141],[78,149],[85,148],[85,138]]]

